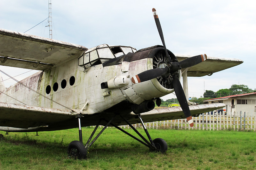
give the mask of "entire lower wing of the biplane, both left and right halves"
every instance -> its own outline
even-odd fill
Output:
[[[201,113],[217,110],[225,106],[226,105],[223,103],[214,103],[189,106],[189,109],[192,116],[197,116]],[[8,132],[36,132],[76,128],[78,127],[78,122],[75,119],[77,114],[80,114],[79,110],[70,111],[68,109],[45,108],[0,102],[0,130]],[[109,119],[111,119],[111,115],[113,114],[97,113],[84,115],[84,118],[81,118],[82,125],[97,125],[97,122],[106,120],[106,117],[110,117]],[[140,122],[138,115],[133,112],[123,114],[123,116],[131,124]],[[181,107],[166,107],[142,113],[141,118],[144,122],[155,122],[182,119],[184,118],[184,114]],[[115,123],[115,125],[127,124],[123,119],[117,117],[112,123]],[[100,124],[104,125],[106,122],[102,121]]]

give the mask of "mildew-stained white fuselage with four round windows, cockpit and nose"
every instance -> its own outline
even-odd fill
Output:
[[[68,107],[84,114],[100,113],[109,108],[113,112],[115,106],[122,103],[123,110],[130,112],[131,105],[173,92],[156,78],[139,84],[131,81],[140,72],[154,69],[153,53],[163,50],[158,48],[136,52],[131,47],[101,45],[88,49],[79,58],[23,79],[20,82],[24,85],[12,85],[5,94],[0,94],[0,101],[48,108]],[[107,88],[101,86],[104,82],[108,83]]]

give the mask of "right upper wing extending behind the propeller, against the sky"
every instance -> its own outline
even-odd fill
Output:
[[[177,59],[180,61],[191,57],[190,55],[178,55]],[[236,65],[242,64],[243,60],[235,58],[219,58],[209,57],[204,62],[196,64],[188,68],[188,77],[202,77],[212,75],[215,72],[225,70]]]

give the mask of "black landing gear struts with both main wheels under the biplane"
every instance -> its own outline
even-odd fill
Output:
[[[128,133],[127,131],[125,131],[124,129],[116,126],[115,124],[111,123],[114,118],[116,117],[113,116],[112,119],[110,121],[107,121],[105,119],[102,119],[104,121],[107,122],[107,124],[104,126],[104,128],[99,132],[98,135],[96,135],[96,137],[92,140],[92,137],[94,136],[96,130],[98,129],[99,125],[100,125],[100,122],[102,120],[100,120],[97,124],[97,126],[95,126],[91,136],[89,137],[88,141],[86,142],[85,146],[83,145],[83,139],[82,139],[82,129],[81,129],[81,122],[80,122],[80,118],[81,118],[81,115],[78,115],[77,118],[78,118],[78,124],[79,124],[79,140],[80,141],[72,141],[69,145],[68,145],[68,156],[71,157],[71,158],[74,158],[74,159],[87,159],[87,150],[92,146],[92,144],[98,139],[98,137],[100,137],[100,135],[102,134],[102,132],[109,126],[113,126],[115,127],[116,129],[119,129],[120,131],[124,132],[125,134],[127,134],[128,136],[132,137],[133,139],[139,141],[141,144],[144,144],[145,146],[147,146],[150,151],[155,151],[155,152],[162,152],[162,153],[165,153],[167,151],[167,143],[164,141],[164,139],[162,138],[156,138],[154,140],[152,140],[152,138],[150,137],[149,133],[148,133],[148,129],[146,128],[146,126],[144,125],[144,122],[142,121],[141,119],[141,116],[140,114],[138,115],[139,116],[139,120],[142,124],[142,127],[148,137],[148,140],[142,136],[140,134],[140,132],[135,129],[132,124],[130,122],[128,122],[122,115],[119,115],[121,118],[124,119],[124,121],[141,137],[141,139],[143,140],[140,140],[139,138],[133,136],[132,134]],[[92,142],[91,142],[92,140]]]

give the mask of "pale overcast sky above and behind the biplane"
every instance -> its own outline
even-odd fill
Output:
[[[189,97],[203,96],[204,90],[230,88],[232,84],[256,89],[255,7],[255,0],[52,0],[53,39],[87,48],[105,43],[137,50],[162,45],[152,14],[152,8],[156,8],[166,47],[174,54],[206,54],[244,61],[212,76],[189,77]],[[47,17],[48,0],[1,0],[0,28],[23,33]],[[45,20],[26,33],[49,38],[47,25]],[[11,76],[28,71],[4,66],[0,69]],[[9,87],[15,82],[4,83]],[[162,99],[169,98],[174,95]]]

